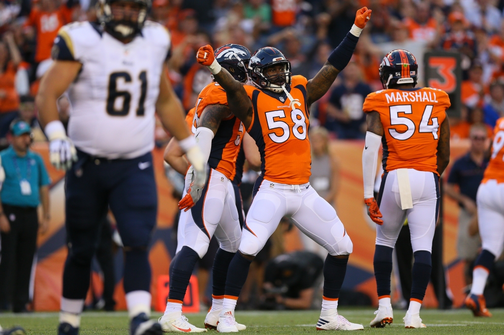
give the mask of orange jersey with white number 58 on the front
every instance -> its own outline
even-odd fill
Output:
[[[289,91],[275,94],[269,90],[245,85],[252,101],[254,115],[247,132],[256,141],[261,153],[261,171],[266,180],[280,184],[308,183],[311,175],[311,154],[307,129],[307,80],[292,76]]]

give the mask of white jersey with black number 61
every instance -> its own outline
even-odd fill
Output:
[[[155,104],[169,49],[168,31],[150,21],[128,44],[90,22],[59,30],[52,57],[82,63],[68,91],[68,135],[78,149],[109,159],[153,149]]]

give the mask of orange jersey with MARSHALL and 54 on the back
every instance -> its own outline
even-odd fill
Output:
[[[450,107],[448,94],[431,88],[389,89],[369,94],[363,111],[378,112],[382,137],[383,169],[415,169],[437,174],[440,125]]]

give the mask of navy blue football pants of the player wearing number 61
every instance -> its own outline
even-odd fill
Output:
[[[149,291],[149,239],[156,225],[157,191],[149,152],[133,159],[104,159],[78,150],[66,176],[69,254],[63,297],[85,299],[101,218],[110,207],[124,245],[124,291]]]

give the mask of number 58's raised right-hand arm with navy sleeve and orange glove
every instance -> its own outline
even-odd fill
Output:
[[[334,49],[321,70],[312,79],[308,80],[306,85],[308,105],[316,102],[329,91],[338,73],[350,62],[359,41],[360,33],[370,18],[371,10],[368,10],[367,7],[357,11],[354,25],[345,39]]]

